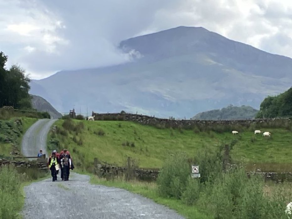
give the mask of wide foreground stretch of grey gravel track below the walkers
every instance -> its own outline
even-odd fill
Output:
[[[167,207],[126,190],[89,184],[89,176],[70,173],[69,181],[51,178],[24,187],[23,216],[51,218],[177,218]]]

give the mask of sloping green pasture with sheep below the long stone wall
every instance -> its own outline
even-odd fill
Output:
[[[64,120],[55,125],[63,130]],[[265,129],[272,137],[254,135],[246,130],[233,136],[230,132],[198,132],[192,130],[158,129],[126,121],[85,121],[81,133],[61,131],[56,138],[60,148],[68,148],[80,158],[77,162],[86,168],[92,166],[93,159],[122,165],[127,157],[138,160],[139,167],[160,168],[172,153],[185,152],[191,158],[204,147],[215,149],[221,144],[238,142],[232,151],[232,158],[246,162],[250,170],[290,171],[292,156],[292,132],[286,129]],[[65,133],[66,132],[66,133]],[[256,164],[256,166],[254,166]]]

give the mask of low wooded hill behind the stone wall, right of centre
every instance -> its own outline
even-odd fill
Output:
[[[222,109],[214,109],[202,113],[198,113],[192,120],[243,120],[254,119],[258,110],[251,106],[233,106]]]

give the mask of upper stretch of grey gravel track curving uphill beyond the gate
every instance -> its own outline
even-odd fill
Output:
[[[40,149],[46,154],[47,134],[56,120],[41,119],[25,132],[21,142],[21,152],[26,157],[37,156]]]

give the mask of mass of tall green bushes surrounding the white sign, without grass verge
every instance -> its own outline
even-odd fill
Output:
[[[171,157],[158,176],[158,194],[196,206],[209,218],[286,218],[284,210],[292,198],[291,190],[280,188],[267,194],[262,177],[248,178],[241,165],[236,168],[222,165],[229,150],[228,147],[219,147],[214,152],[205,149],[192,160],[179,155]],[[192,163],[200,166],[205,177],[190,177],[188,169]]]

